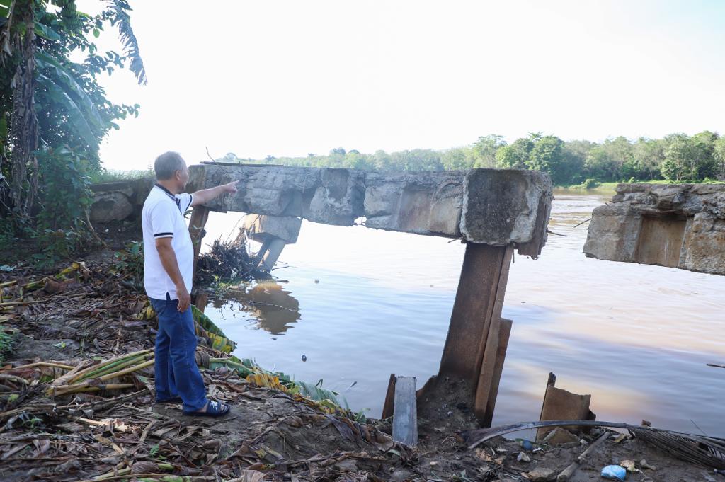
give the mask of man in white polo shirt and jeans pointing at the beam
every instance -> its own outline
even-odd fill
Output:
[[[207,400],[196,367],[196,332],[191,316],[194,246],[183,213],[222,194],[236,193],[236,183],[186,194],[188,168],[181,155],[156,158],[156,185],[144,202],[144,287],[159,317],[156,336],[156,402],[183,403],[185,415],[218,417],[228,404]]]

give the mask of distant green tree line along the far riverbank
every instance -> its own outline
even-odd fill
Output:
[[[348,167],[361,170],[465,170],[474,167],[542,170],[557,186],[601,182],[668,180],[703,182],[725,180],[725,136],[705,130],[687,136],[663,138],[619,136],[603,142],[563,141],[557,136],[531,133],[508,143],[504,136],[479,137],[469,146],[436,151],[412,149],[363,154],[355,149],[332,149],[328,154],[305,157],[240,159],[226,154],[225,162],[281,164],[300,167]]]

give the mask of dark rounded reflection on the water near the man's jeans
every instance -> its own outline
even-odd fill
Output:
[[[299,302],[277,281],[260,281],[240,285],[229,289],[226,299],[214,301],[215,308],[223,304],[240,302],[244,312],[251,317],[254,325],[273,335],[285,333],[299,320]]]

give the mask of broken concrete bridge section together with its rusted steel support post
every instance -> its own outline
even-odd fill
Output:
[[[302,219],[458,238],[466,244],[439,374],[418,391],[418,405],[460,381],[460,400],[490,425],[510,320],[501,317],[513,250],[538,257],[547,240],[552,184],[545,173],[474,169],[380,173],[352,169],[202,163],[189,167],[189,189],[239,180],[233,196],[197,206],[190,231],[198,254],[210,211],[247,218],[271,267],[286,243],[297,241]],[[427,396],[426,396],[427,395]],[[386,402],[386,409],[389,403]],[[384,409],[384,411],[386,410]]]

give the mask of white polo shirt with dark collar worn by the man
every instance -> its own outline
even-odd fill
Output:
[[[186,227],[183,213],[186,212],[193,196],[177,194],[174,196],[166,188],[157,184],[149,193],[141,212],[141,224],[144,228],[144,288],[149,298],[178,299],[176,287],[161,264],[156,249],[157,238],[173,238],[171,247],[181,271],[186,290],[191,293],[191,278],[194,275],[194,246]]]

